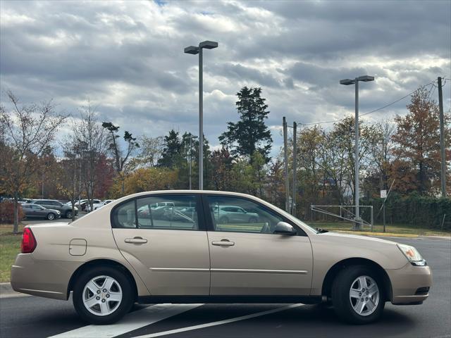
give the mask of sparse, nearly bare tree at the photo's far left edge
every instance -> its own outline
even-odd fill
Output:
[[[7,92],[11,110],[0,106],[0,154],[2,190],[14,198],[14,227],[18,233],[18,199],[30,185],[39,169],[38,158],[54,141],[56,131],[65,115],[55,112],[52,101],[42,104],[20,105],[18,98]]]

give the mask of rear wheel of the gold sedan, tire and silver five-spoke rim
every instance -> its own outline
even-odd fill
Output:
[[[80,317],[95,325],[116,323],[130,311],[133,289],[121,270],[91,268],[76,281],[73,305]]]

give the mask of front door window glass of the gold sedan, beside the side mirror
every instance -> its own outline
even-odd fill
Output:
[[[233,196],[209,196],[209,210],[215,231],[272,234],[283,221],[260,204]]]

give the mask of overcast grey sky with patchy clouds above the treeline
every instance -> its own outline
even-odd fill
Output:
[[[235,94],[262,87],[278,153],[288,122],[338,120],[451,77],[451,1],[0,1],[0,84],[24,103],[54,99],[77,115],[87,100],[135,135],[198,134],[204,51],[204,134],[213,146],[237,120]],[[428,86],[428,89],[431,85]],[[450,107],[451,80],[443,89]],[[437,99],[437,90],[431,95]],[[366,120],[405,114],[408,99]],[[329,125],[324,125],[328,127]]]

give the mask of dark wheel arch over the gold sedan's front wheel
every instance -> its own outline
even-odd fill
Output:
[[[373,270],[378,275],[379,280],[381,280],[381,282],[383,283],[383,294],[385,296],[385,300],[390,301],[392,299],[392,285],[388,274],[381,267],[381,265],[379,265],[375,261],[361,257],[346,258],[342,261],[339,261],[338,263],[335,263],[326,273],[326,277],[324,277],[323,286],[321,289],[322,296],[326,296],[328,300],[330,299],[333,280],[335,280],[335,277],[342,269],[351,265],[366,265],[371,268],[371,270]]]

